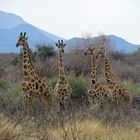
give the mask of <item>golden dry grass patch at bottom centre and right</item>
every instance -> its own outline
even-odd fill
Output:
[[[54,140],[139,140],[140,123],[135,127],[104,125],[97,120],[66,123],[64,127],[53,128],[49,134]]]

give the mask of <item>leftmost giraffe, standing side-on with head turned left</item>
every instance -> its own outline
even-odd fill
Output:
[[[23,69],[23,81],[22,90],[23,98],[25,103],[25,108],[28,112],[32,111],[32,99],[33,97],[38,97],[45,101],[47,105],[51,105],[52,102],[52,87],[49,85],[48,81],[42,79],[35,67],[32,64],[30,57],[31,50],[27,42],[28,37],[26,37],[26,32],[24,35],[20,33],[19,39],[17,41],[16,47],[23,46],[22,53],[22,69]]]

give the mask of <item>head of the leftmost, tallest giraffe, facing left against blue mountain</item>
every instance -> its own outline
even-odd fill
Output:
[[[24,34],[22,34],[22,32],[21,32],[20,36],[18,38],[16,47],[24,46],[26,44],[27,39],[28,39],[28,37],[26,37],[26,32],[24,32]]]

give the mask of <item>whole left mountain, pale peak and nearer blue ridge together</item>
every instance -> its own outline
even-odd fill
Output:
[[[15,14],[0,11],[0,52],[19,52],[15,47],[20,32],[27,32],[29,46],[34,50],[36,44],[45,43],[55,46],[61,37],[48,33],[25,22]]]

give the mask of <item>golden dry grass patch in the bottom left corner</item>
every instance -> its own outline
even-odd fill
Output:
[[[34,125],[31,120],[24,118],[23,124],[21,123],[21,116],[20,118],[19,116],[14,116],[12,119],[10,117],[7,118],[3,113],[0,113],[0,140],[38,140],[37,133],[33,132],[34,127],[30,131],[29,127],[25,127],[27,124]]]

